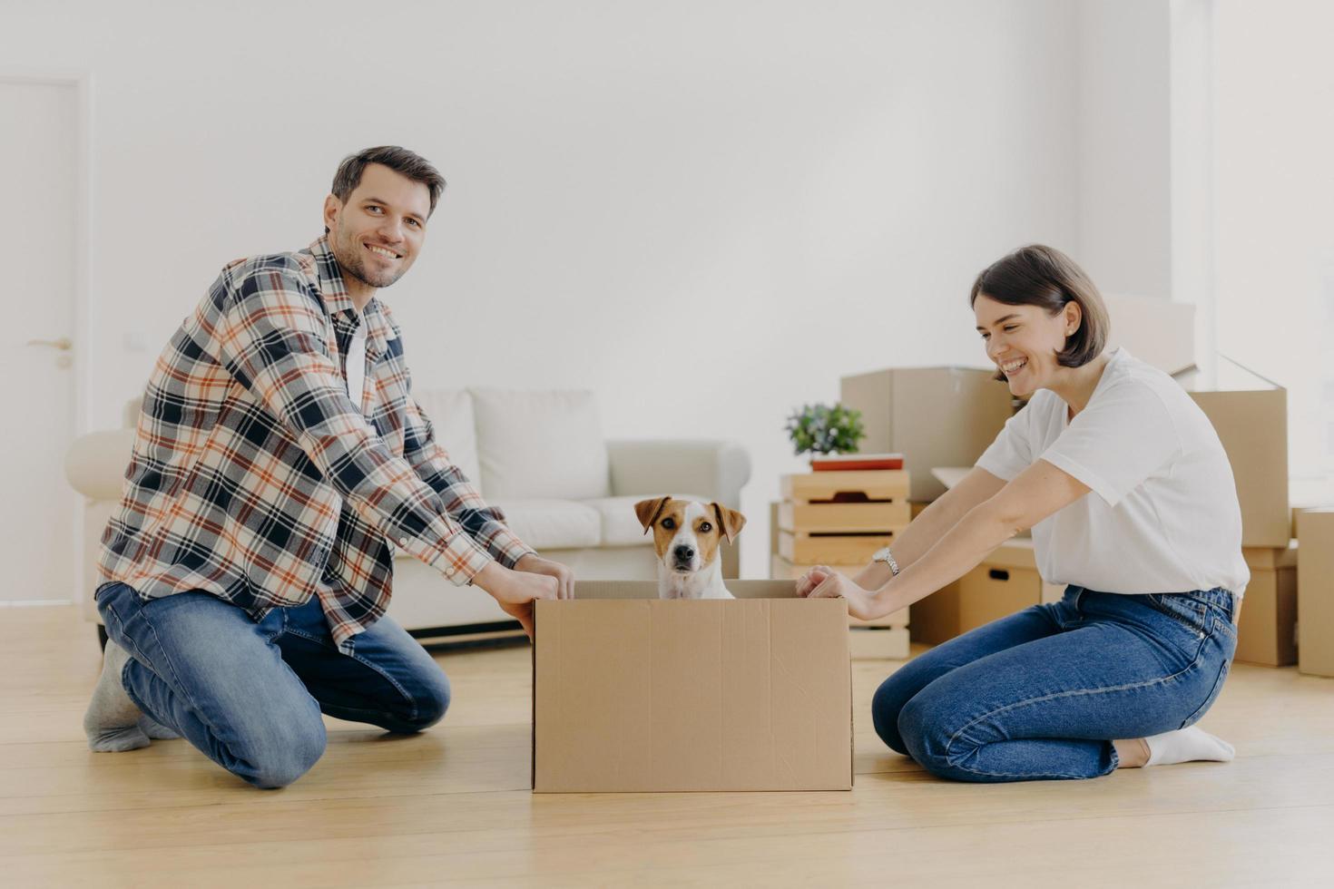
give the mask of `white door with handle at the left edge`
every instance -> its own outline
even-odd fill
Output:
[[[0,77],[0,601],[75,593],[77,87]]]

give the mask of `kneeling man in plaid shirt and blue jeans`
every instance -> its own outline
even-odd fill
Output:
[[[227,265],[163,351],[103,534],[92,749],[179,733],[276,788],[324,752],[321,712],[439,721],[444,673],[384,614],[391,544],[530,634],[534,600],[574,594],[435,443],[376,296],[412,267],[443,189],[407,149],[348,157],[324,237]]]

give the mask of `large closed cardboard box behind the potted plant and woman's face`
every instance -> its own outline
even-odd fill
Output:
[[[1010,419],[1010,388],[992,371],[894,368],[843,377],[839,401],[862,412],[867,453],[902,453],[910,500],[944,493],[931,466],[971,466]]]

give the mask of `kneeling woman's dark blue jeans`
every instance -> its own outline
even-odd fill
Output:
[[[1111,741],[1191,725],[1223,688],[1231,593],[1119,596],[1082,586],[908,661],[871,702],[875,730],[959,781],[1093,778]]]

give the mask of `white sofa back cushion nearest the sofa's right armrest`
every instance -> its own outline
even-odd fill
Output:
[[[611,493],[592,392],[471,392],[488,498],[587,500]]]

